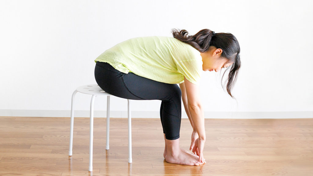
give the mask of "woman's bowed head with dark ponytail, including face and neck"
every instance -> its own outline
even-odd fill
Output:
[[[223,85],[223,77],[221,84],[226,87],[228,94],[233,97],[231,90],[237,80],[237,75],[241,65],[239,53],[240,47],[238,40],[230,33],[214,33],[210,29],[202,29],[195,35],[188,35],[186,30],[172,30],[173,37],[190,44],[197,49],[202,56],[203,70],[216,72],[226,68],[228,79]]]

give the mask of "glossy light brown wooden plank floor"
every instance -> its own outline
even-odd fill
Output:
[[[0,117],[0,175],[311,176],[313,119],[206,119],[203,166],[167,163],[159,119],[132,119],[133,163],[128,161],[127,119],[94,120],[93,172],[88,172],[89,118],[75,118],[68,156],[69,118]],[[191,127],[182,119],[181,147]]]

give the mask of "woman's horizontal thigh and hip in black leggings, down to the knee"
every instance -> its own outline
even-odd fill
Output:
[[[132,100],[171,100],[180,99],[181,91],[176,84],[150,80],[134,73],[122,73],[107,63],[95,67],[98,85],[111,95]]]

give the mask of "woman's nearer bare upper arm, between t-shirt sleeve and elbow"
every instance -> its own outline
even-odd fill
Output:
[[[184,78],[184,89],[187,94],[188,106],[200,107],[200,88],[199,85],[195,85]]]

